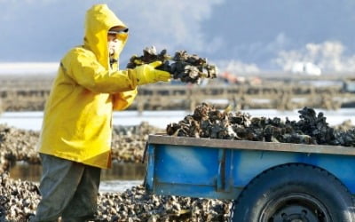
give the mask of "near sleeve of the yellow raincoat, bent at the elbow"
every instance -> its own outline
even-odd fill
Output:
[[[92,52],[82,48],[75,48],[62,59],[62,66],[67,69],[67,75],[75,83],[90,91],[114,94],[137,88],[134,69],[109,71],[99,63]]]

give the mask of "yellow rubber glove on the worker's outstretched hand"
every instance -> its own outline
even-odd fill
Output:
[[[147,83],[156,83],[159,81],[169,82],[171,75],[169,72],[155,69],[162,65],[161,61],[154,61],[149,64],[144,64],[136,67],[136,78],[138,85],[147,84]]]

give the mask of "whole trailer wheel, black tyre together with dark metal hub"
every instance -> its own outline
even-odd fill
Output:
[[[254,178],[233,204],[233,222],[355,221],[351,194],[326,170],[281,165]]]

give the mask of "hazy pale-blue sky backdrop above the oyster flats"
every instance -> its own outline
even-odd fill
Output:
[[[92,4],[107,4],[130,28],[121,64],[154,45],[239,72],[355,68],[353,0],[0,0],[0,63],[58,62],[83,44]]]

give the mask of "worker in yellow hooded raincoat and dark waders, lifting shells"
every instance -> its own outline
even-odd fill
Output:
[[[100,170],[111,165],[112,112],[137,86],[170,81],[154,62],[119,70],[128,28],[106,4],[86,13],[84,43],[67,52],[47,100],[39,153],[42,200],[31,221],[85,221],[97,210]]]

